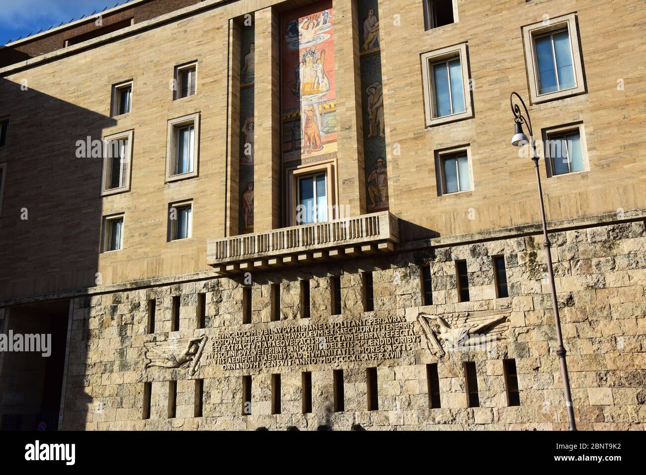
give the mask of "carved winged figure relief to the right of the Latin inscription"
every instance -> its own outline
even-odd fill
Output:
[[[441,358],[447,351],[488,347],[503,339],[509,328],[511,310],[464,311],[430,315],[420,312],[417,321],[433,355]],[[506,322],[506,324],[505,324]]]

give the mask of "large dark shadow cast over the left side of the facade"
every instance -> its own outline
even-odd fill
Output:
[[[9,120],[6,147],[0,149],[0,163],[6,163],[0,331],[49,334],[52,347],[49,357],[36,352],[0,354],[0,416],[6,429],[35,430],[45,422],[50,430],[58,421],[66,346],[69,368],[78,373],[87,366],[81,339],[89,333],[88,320],[74,323],[74,341],[68,341],[74,301],[65,292],[96,285],[101,242],[102,160],[79,158],[77,142],[87,137],[100,141],[103,130],[116,122],[5,78],[0,78],[0,110]],[[25,304],[34,296],[41,301]],[[68,381],[86,373],[70,374]],[[88,405],[91,397],[83,394],[85,399],[68,404]]]

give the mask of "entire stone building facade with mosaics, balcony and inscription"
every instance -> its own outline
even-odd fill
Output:
[[[3,428],[565,430],[514,90],[569,141],[539,153],[578,427],[644,428],[640,2],[139,3],[0,69],[0,330],[53,343],[0,352]]]

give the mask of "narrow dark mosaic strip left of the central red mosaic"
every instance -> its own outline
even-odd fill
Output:
[[[253,14],[240,22],[240,222],[239,232],[253,233],[253,117],[255,26]]]

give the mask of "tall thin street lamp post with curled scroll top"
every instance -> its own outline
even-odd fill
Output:
[[[523,109],[525,109],[525,116],[521,108],[516,103],[514,104],[514,96],[518,98]],[[536,182],[538,184],[538,198],[541,204],[541,218],[543,219],[543,237],[545,237],[545,256],[547,257],[547,273],[550,277],[550,292],[552,294],[552,309],[554,310],[554,325],[556,326],[556,339],[559,347],[556,354],[561,363],[561,379],[563,379],[563,393],[565,394],[565,406],[567,407],[567,417],[570,423],[570,430],[576,430],[576,421],[574,421],[574,406],[572,406],[572,394],[570,394],[570,378],[567,374],[567,363],[565,362],[565,347],[563,347],[563,335],[561,333],[561,319],[559,318],[559,305],[556,299],[556,284],[554,284],[554,268],[552,268],[552,250],[550,238],[547,235],[547,220],[545,219],[545,203],[543,202],[543,188],[541,187],[541,174],[538,169],[538,156],[536,154],[536,145],[534,143],[534,133],[532,132],[532,120],[529,116],[529,111],[525,106],[525,102],[517,94],[512,92],[509,103],[514,112],[514,137],[512,138],[512,145],[514,147],[522,147],[525,143],[529,144],[530,158],[534,160],[534,169],[536,170]],[[529,137],[523,132],[523,123],[527,126]]]

